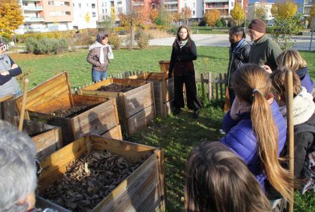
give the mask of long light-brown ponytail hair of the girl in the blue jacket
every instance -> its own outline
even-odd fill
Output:
[[[278,128],[266,100],[271,88],[268,72],[255,64],[246,64],[234,72],[231,84],[238,98],[252,104],[251,122],[257,136],[257,153],[268,181],[286,200],[292,201],[293,179],[279,163]]]

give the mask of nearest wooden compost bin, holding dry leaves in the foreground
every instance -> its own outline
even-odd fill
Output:
[[[165,211],[164,151],[97,135],[85,135],[42,160],[38,189],[45,191],[53,185],[66,172],[69,163],[90,149],[108,150],[130,163],[142,163],[92,211]],[[67,211],[44,198],[39,200],[44,208]]]

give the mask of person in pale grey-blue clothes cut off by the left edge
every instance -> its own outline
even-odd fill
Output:
[[[16,76],[22,73],[22,69],[4,52],[5,46],[0,41],[0,98],[10,95],[16,97],[21,94]]]

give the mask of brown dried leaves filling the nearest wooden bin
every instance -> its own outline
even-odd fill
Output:
[[[107,151],[92,150],[69,165],[62,178],[40,196],[71,211],[89,211],[139,165]]]

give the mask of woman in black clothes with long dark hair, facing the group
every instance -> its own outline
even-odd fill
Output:
[[[174,94],[175,109],[173,115],[180,113],[184,105],[183,85],[185,83],[187,106],[194,110],[194,118],[198,118],[201,109],[196,88],[196,79],[194,77],[194,63],[197,59],[197,49],[194,41],[191,40],[188,29],[184,26],[177,30],[175,41],[173,43],[170,67],[168,68],[168,77],[172,77],[174,71]]]

